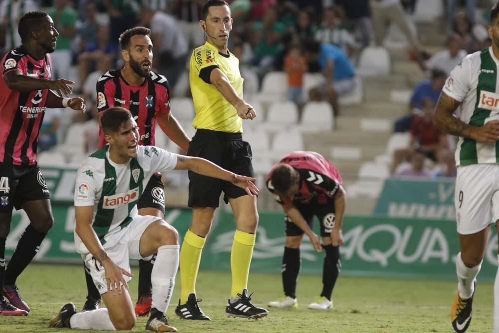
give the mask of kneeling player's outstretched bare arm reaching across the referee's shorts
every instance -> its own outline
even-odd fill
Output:
[[[255,178],[237,175],[233,172],[222,169],[215,163],[212,163],[204,158],[188,157],[177,155],[177,170],[191,170],[203,176],[218,178],[233,183],[241,187],[250,196],[258,194],[258,188],[254,185]]]

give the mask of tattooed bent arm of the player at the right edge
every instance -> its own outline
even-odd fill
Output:
[[[483,126],[467,124],[453,115],[459,104],[460,102],[442,92],[433,115],[435,127],[448,134],[470,138],[477,142],[495,143],[499,140],[499,120],[489,121]]]

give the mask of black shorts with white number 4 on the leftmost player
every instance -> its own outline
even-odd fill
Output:
[[[38,164],[17,166],[0,163],[0,213],[19,210],[26,201],[50,199]]]

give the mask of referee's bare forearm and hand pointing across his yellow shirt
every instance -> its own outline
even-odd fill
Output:
[[[210,73],[210,82],[220,91],[220,93],[231,103],[236,110],[238,115],[242,119],[253,119],[256,117],[256,111],[254,108],[239,97],[236,89],[232,86],[231,82],[225,75],[225,73],[219,68],[215,68]]]

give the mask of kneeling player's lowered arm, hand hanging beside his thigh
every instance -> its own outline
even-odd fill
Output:
[[[95,231],[92,229],[93,208],[94,206],[75,207],[75,231],[92,256],[104,267],[108,290],[114,294],[116,294],[116,292],[121,294],[120,282],[128,289],[128,285],[123,278],[123,275],[129,277],[132,275],[114,264],[107,256],[97,234],[95,234]]]

